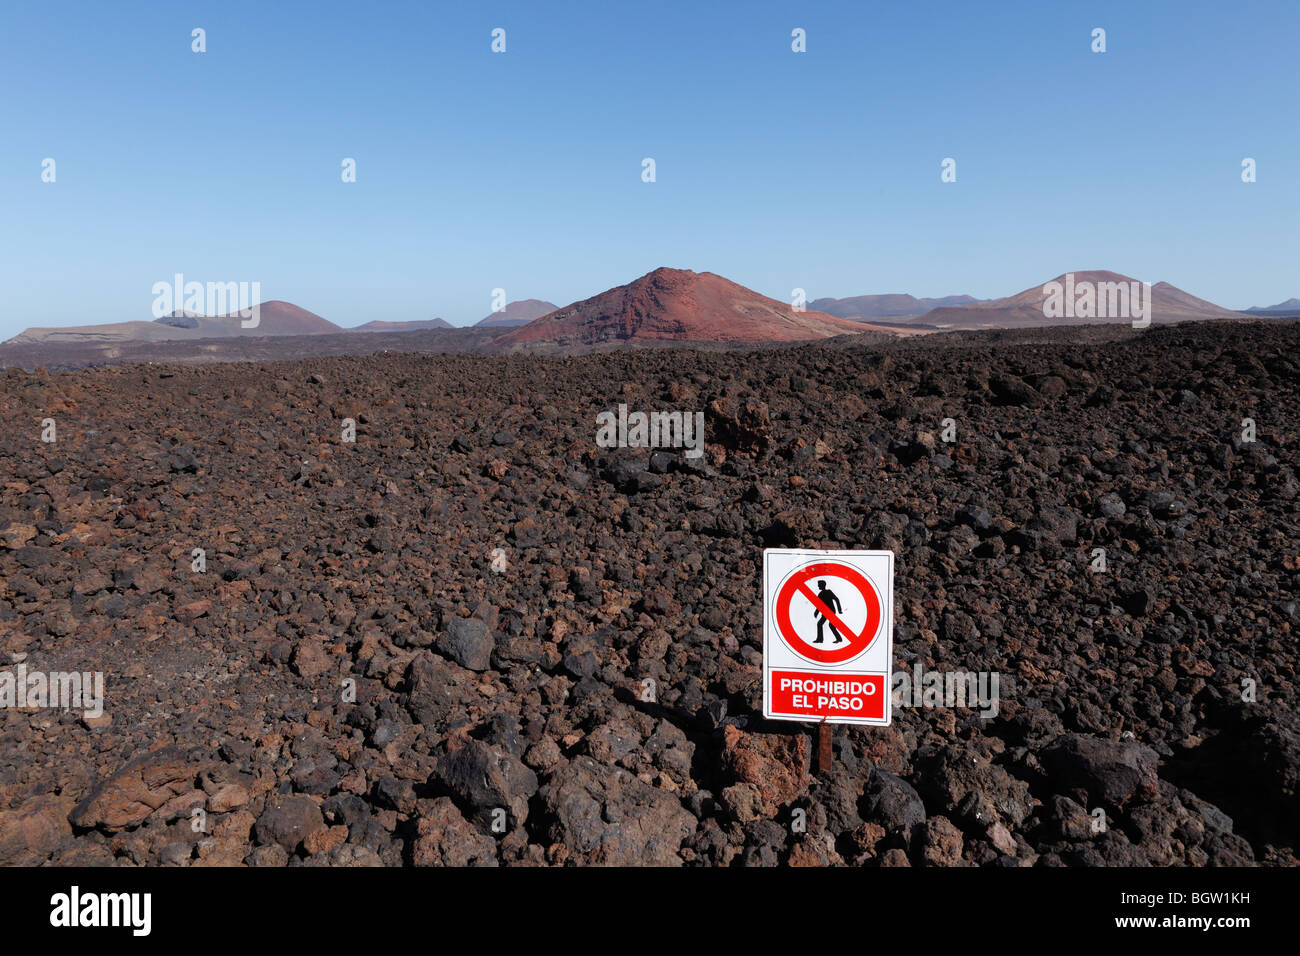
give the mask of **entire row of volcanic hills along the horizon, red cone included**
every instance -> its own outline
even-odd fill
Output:
[[[650,342],[794,342],[863,332],[901,336],[936,330],[1095,325],[1131,323],[1139,317],[1134,312],[1139,307],[1149,308],[1154,323],[1300,315],[1300,299],[1234,312],[1167,282],[1149,286],[1149,302],[1147,290],[1148,286],[1128,276],[1089,269],[1065,273],[1001,299],[855,295],[814,299],[811,308],[796,310],[786,302],[771,299],[711,272],[659,268],[627,285],[564,307],[542,299],[511,302],[473,328],[474,342],[491,342],[493,347],[515,350]],[[1128,306],[1130,311],[1114,312],[1117,303]],[[233,337],[465,332],[442,319],[377,319],[343,329],[315,312],[281,300],[261,303],[259,317],[255,328],[244,328],[244,320],[237,313],[203,316],[174,312],[155,321],[30,328],[4,345],[109,349]]]

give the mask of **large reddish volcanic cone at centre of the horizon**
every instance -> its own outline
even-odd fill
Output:
[[[883,326],[796,312],[711,272],[655,269],[628,285],[558,308],[497,339],[500,347],[637,342],[798,342]]]

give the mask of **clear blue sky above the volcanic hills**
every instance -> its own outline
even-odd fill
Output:
[[[1290,0],[6,3],[0,337],[150,319],[177,272],[341,325],[659,265],[1271,304],[1300,295],[1297,35]]]

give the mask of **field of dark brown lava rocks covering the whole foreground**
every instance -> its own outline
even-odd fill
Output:
[[[1300,326],[1100,332],[10,369],[0,671],[105,706],[0,710],[0,864],[1295,865]],[[812,773],[764,546],[997,714]]]

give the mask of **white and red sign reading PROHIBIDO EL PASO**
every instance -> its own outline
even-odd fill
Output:
[[[887,724],[893,551],[763,551],[763,717]]]

